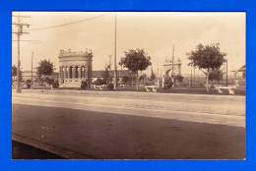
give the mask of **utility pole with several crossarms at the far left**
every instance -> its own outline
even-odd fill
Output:
[[[13,23],[13,25],[15,25],[17,27],[17,32],[12,32],[12,33],[17,33],[18,35],[18,67],[17,67],[17,92],[20,93],[22,92],[22,89],[21,89],[21,85],[20,85],[20,67],[21,67],[21,60],[20,60],[20,36],[23,34],[23,33],[29,33],[29,32],[24,32],[23,31],[23,27],[24,26],[27,26],[28,28],[30,27],[29,24],[23,24],[21,23],[21,20],[23,18],[30,18],[29,16],[20,16],[20,13],[18,13],[18,15],[13,15],[12,17],[17,17],[17,23]]]

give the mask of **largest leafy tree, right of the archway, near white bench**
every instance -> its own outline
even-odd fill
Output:
[[[195,51],[187,53],[187,58],[191,61],[188,65],[198,67],[206,75],[207,92],[209,92],[209,74],[211,71],[219,69],[226,61],[226,53],[220,51],[220,44],[202,45],[198,44]]]

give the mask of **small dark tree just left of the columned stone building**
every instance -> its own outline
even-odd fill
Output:
[[[45,81],[45,78],[47,76],[52,75],[54,69],[53,63],[50,62],[50,60],[41,60],[38,63],[38,67],[37,69],[37,75],[40,78],[40,80],[42,80],[43,82]],[[43,77],[43,79],[42,79]]]

